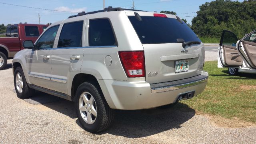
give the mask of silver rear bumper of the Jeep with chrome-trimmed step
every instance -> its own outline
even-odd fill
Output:
[[[98,80],[110,108],[137,110],[172,104],[182,94],[202,93],[208,81],[208,73],[183,80],[149,84],[120,80]]]

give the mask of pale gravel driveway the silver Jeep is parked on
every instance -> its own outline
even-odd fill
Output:
[[[11,60],[7,67],[0,71],[2,144],[256,143],[255,125],[218,126],[208,116],[197,115],[189,107],[117,110],[112,127],[100,134],[91,134],[80,127],[73,102],[40,92],[32,100],[17,98],[13,92]]]

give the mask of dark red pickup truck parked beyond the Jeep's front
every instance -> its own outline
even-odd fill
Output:
[[[24,40],[36,41],[48,25],[43,24],[13,24],[7,26],[6,38],[0,38],[0,70],[18,51],[23,50]]]

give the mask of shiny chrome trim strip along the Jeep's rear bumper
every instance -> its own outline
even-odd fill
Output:
[[[186,87],[189,87],[189,86],[195,86],[195,85],[198,85],[198,84],[202,84],[202,83],[207,82],[207,81],[208,81],[208,76],[204,79],[193,81],[193,82],[188,82],[188,83],[185,83],[185,84],[176,84],[176,85],[171,85],[171,86],[163,86],[163,87],[160,87],[160,88],[151,88],[151,92],[152,93],[158,93],[158,92],[166,92],[166,91],[170,91],[170,90],[177,90],[177,89],[180,89],[180,88],[186,88]]]

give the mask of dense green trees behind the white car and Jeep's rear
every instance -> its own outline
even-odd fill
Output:
[[[176,15],[176,12],[161,12]],[[196,13],[189,26],[200,38],[220,38],[223,30],[242,38],[256,29],[256,0],[215,0],[199,6]]]

